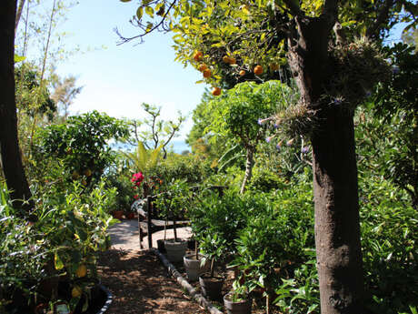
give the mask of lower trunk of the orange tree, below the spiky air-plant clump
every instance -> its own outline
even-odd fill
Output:
[[[312,144],[321,312],[361,314],[363,264],[353,115],[329,110]]]

